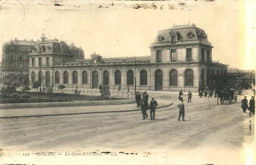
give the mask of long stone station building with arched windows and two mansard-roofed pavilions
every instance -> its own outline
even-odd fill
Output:
[[[94,53],[91,59],[78,60],[66,47],[63,42],[37,43],[29,54],[30,81],[39,80],[41,70],[53,87],[98,88],[106,80],[110,89],[120,84],[122,90],[135,90],[136,84],[136,90],[142,91],[197,91],[203,84],[212,85],[219,74],[227,74],[228,65],[212,61],[213,47],[204,30],[194,24],[160,30],[149,46],[151,55],[145,57],[102,58]]]

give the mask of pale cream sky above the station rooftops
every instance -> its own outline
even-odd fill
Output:
[[[185,4],[179,5],[181,2]],[[57,3],[62,6],[55,6]],[[147,7],[132,8],[136,3]],[[99,5],[103,7],[98,8]],[[152,9],[154,5],[156,9]],[[8,0],[0,8],[0,44],[15,37],[36,41],[45,33],[49,39],[81,46],[86,59],[94,51],[102,57],[145,56],[150,55],[148,46],[158,30],[172,27],[173,22],[183,25],[190,21],[206,32],[214,46],[212,60],[239,69],[254,68],[256,46],[252,41],[256,36],[252,27],[255,22],[250,13],[252,7],[246,8],[246,3],[174,0],[154,1],[154,5],[152,2],[102,0],[56,3],[24,0],[20,4]]]

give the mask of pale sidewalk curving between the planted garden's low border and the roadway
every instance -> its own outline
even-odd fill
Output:
[[[157,108],[171,106],[171,101],[156,100]],[[150,103],[150,101],[148,101]],[[97,113],[116,113],[140,111],[134,104],[114,105],[114,106],[76,106],[76,107],[50,107],[50,108],[24,108],[24,109],[2,109],[0,119],[21,118],[21,117],[40,117],[74,114],[97,114]]]

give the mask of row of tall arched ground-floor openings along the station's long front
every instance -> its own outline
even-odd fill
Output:
[[[201,74],[203,74],[203,73],[201,73]],[[114,73],[114,76],[115,76],[115,78],[114,78],[115,85],[119,85],[119,84],[121,85],[121,79],[122,79],[121,71],[116,70],[115,73]],[[49,71],[46,73],[46,78],[48,78],[48,77],[50,79],[50,72]],[[69,83],[68,78],[69,78],[68,71],[65,71],[63,73],[63,83],[64,84]],[[98,81],[98,72],[97,71],[92,72],[92,78],[93,78],[93,80],[95,78],[97,78],[97,81]],[[158,69],[156,71],[155,79],[156,79],[156,84],[159,84],[160,86],[163,85],[163,72],[160,69]],[[42,74],[42,72],[40,72],[38,74],[38,80],[41,81],[41,83],[43,83],[43,74]],[[109,83],[109,72],[108,72],[108,70],[105,70],[103,72],[103,80],[105,82]],[[33,83],[35,81],[36,81],[36,74],[35,74],[35,72],[32,72],[31,82]],[[59,73],[59,71],[55,72],[54,83],[60,83],[60,73]],[[77,84],[77,83],[78,83],[78,74],[77,74],[77,71],[74,71],[72,73],[72,84]],[[88,84],[88,73],[87,73],[87,71],[83,71],[83,73],[82,73],[82,84]],[[126,84],[127,85],[134,85],[134,72],[132,70],[128,70],[128,72],[127,72]],[[140,71],[140,85],[148,85],[148,72],[145,69]],[[193,86],[193,85],[194,85],[194,73],[191,69],[187,69],[185,71],[185,86]],[[178,72],[175,69],[172,69],[169,73],[169,86],[178,86]]]

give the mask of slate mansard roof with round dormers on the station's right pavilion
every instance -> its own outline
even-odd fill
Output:
[[[189,40],[200,40],[204,41],[206,43],[209,43],[207,39],[207,35],[204,32],[204,30],[197,28],[196,25],[182,25],[182,26],[174,26],[172,28],[164,29],[164,30],[159,30],[156,38],[154,40],[154,43],[163,43],[163,42],[171,42],[171,35],[170,32],[178,32],[178,41],[189,41]],[[193,39],[188,39],[187,35],[188,33],[192,33],[194,35]],[[201,35],[200,35],[201,33]],[[164,37],[163,41],[158,41],[158,36]],[[209,43],[211,44],[211,43]]]

